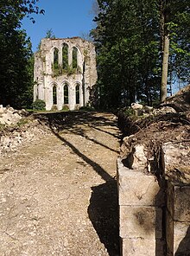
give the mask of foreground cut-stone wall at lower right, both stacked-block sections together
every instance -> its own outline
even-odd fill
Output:
[[[124,138],[123,146],[128,138]],[[190,146],[165,143],[156,177],[142,144],[117,162],[122,256],[190,255]],[[144,171],[144,167],[149,171]],[[150,171],[151,170],[151,171]]]

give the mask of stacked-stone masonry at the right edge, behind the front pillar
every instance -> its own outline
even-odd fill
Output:
[[[166,241],[168,256],[190,255],[190,146],[162,145],[166,186]]]

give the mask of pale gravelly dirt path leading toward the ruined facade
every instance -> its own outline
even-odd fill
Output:
[[[119,255],[115,117],[42,118],[46,138],[0,159],[0,256]]]

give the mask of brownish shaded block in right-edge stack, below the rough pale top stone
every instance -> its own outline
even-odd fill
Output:
[[[190,222],[190,186],[168,182],[167,208],[174,221]]]

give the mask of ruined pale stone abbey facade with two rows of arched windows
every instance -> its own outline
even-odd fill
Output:
[[[34,101],[44,100],[46,110],[86,106],[96,80],[92,42],[79,37],[41,40],[40,50],[35,53]]]

